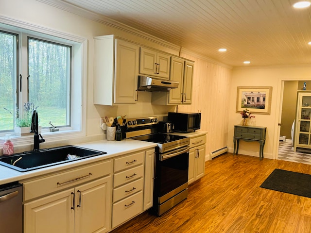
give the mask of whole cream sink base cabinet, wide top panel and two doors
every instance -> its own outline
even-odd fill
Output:
[[[110,171],[107,161],[25,181],[24,233],[108,232]]]

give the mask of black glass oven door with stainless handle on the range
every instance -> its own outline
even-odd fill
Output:
[[[164,154],[155,161],[154,197],[162,203],[188,187],[189,146]]]

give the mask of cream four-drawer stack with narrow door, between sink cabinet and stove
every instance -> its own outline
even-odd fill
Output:
[[[152,207],[154,151],[114,160],[112,229]]]

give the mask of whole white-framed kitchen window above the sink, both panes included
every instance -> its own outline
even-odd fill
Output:
[[[0,23],[0,136],[14,135],[14,116],[26,102],[38,106],[42,134],[84,133],[86,40],[41,29]]]

